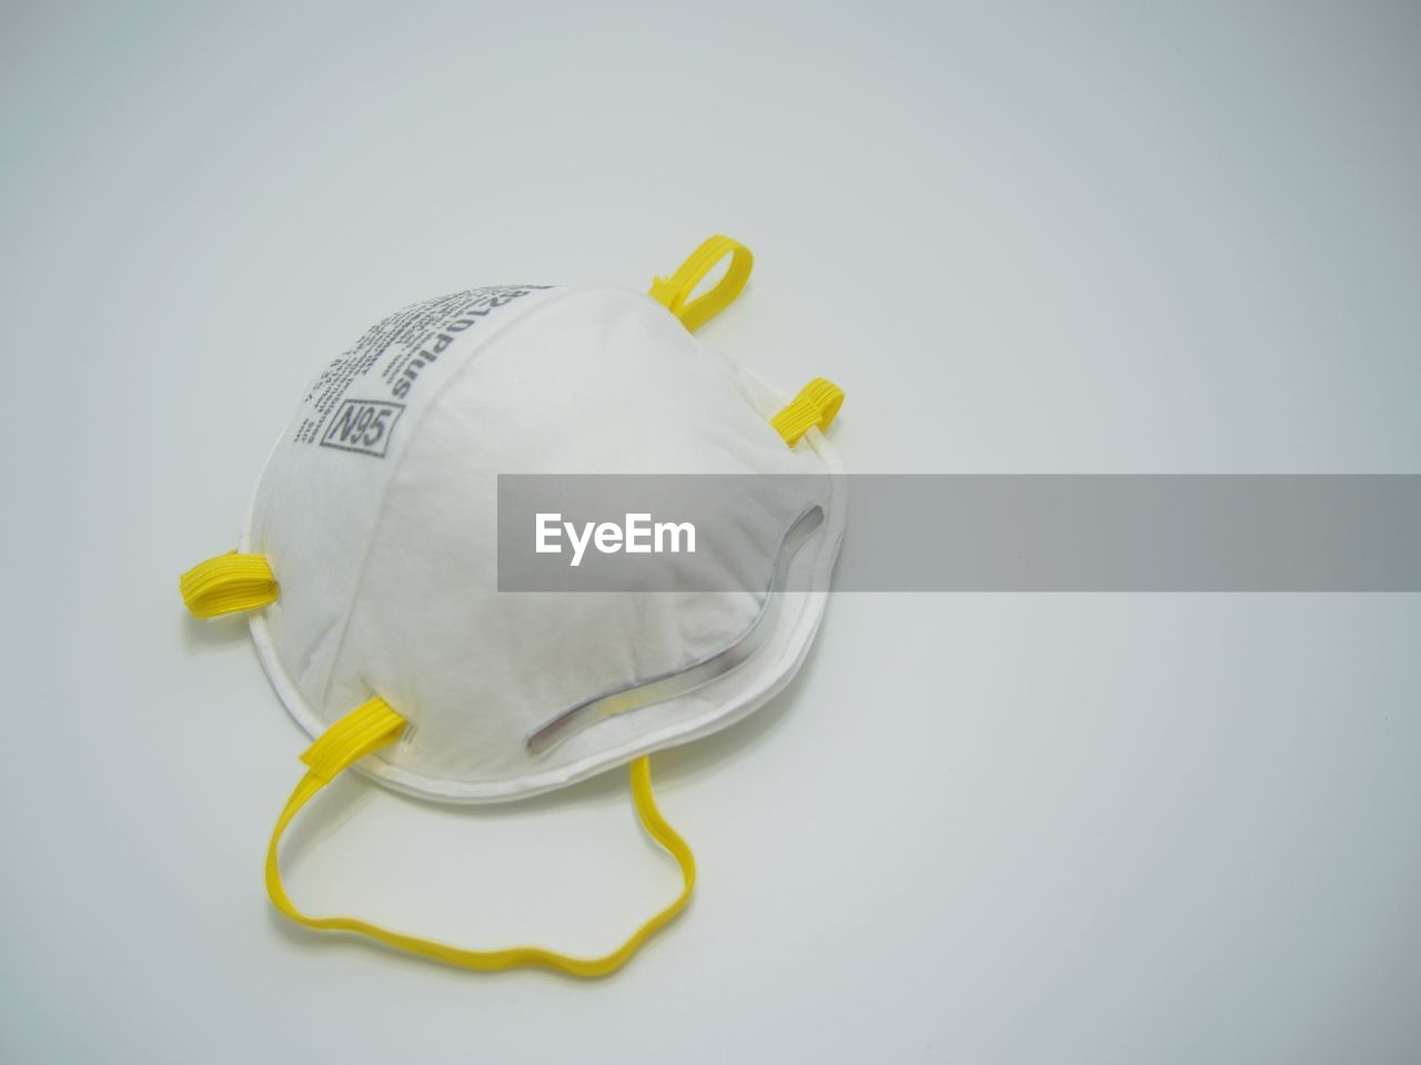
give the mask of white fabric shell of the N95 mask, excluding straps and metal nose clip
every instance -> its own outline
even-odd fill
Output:
[[[431,331],[448,344],[421,361]],[[837,473],[818,430],[789,449],[769,426],[783,399],[625,288],[475,290],[391,315],[315,382],[257,488],[243,550],[281,585],[252,615],[273,686],[313,737],[381,696],[411,728],[358,768],[446,801],[547,791],[739,720],[793,676],[826,592],[780,594],[773,632],[733,673],[529,753],[558,711],[732,643],[762,596],[499,594],[497,474]],[[378,416],[364,439],[381,435],[364,453],[333,429],[361,410]],[[843,534],[841,483],[824,484],[800,586],[827,586]],[[769,564],[779,542],[753,547]],[[698,565],[715,551],[698,545]],[[725,586],[753,586],[746,551],[722,557]]]

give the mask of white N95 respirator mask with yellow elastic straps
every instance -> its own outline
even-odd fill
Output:
[[[286,916],[469,968],[600,976],[685,906],[695,862],[657,809],[647,755],[725,728],[789,682],[823,618],[844,528],[824,436],[843,392],[817,378],[786,402],[693,337],[750,266],[747,248],[712,237],[647,295],[615,285],[456,293],[389,315],[311,383],[237,550],[180,579],[199,618],[249,613],[273,687],[314,740],[267,852],[267,889]],[[698,579],[509,591],[500,480],[512,476],[784,476],[774,483],[813,487],[755,500],[753,520],[726,523],[725,535],[702,530],[693,545],[682,542],[691,523],[644,514],[611,537],[561,513],[539,514],[537,527],[520,520],[519,537],[539,552],[566,548],[567,565],[611,541],[645,548],[628,554],[638,572],[693,564]],[[672,554],[655,554],[662,532],[681,538]],[[684,889],[605,957],[466,950],[311,917],[281,883],[281,832],[347,767],[425,799],[495,802],[624,764]]]

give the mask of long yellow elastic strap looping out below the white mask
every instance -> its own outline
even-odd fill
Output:
[[[637,814],[641,824],[661,846],[664,846],[681,866],[684,886],[675,902],[654,916],[631,939],[622,943],[611,954],[603,957],[580,958],[557,954],[541,947],[509,947],[506,950],[465,950],[450,947],[435,940],[406,936],[399,932],[389,932],[377,924],[369,924],[355,917],[308,917],[291,905],[291,899],[281,885],[281,869],[277,862],[277,842],[291,818],[304,807],[310,798],[334,780],[341,770],[371,751],[392,743],[405,728],[405,719],[396,714],[382,699],[372,699],[358,710],[352,710],[340,721],[333,724],[317,740],[311,748],[301,755],[301,761],[310,765],[310,772],[296,785],[286,809],[277,818],[276,829],[271,832],[271,845],[267,848],[266,880],[267,893],[281,913],[298,924],[308,929],[325,932],[358,932],[362,936],[379,940],[381,943],[406,950],[411,954],[422,954],[446,961],[462,968],[477,968],[483,971],[500,968],[517,968],[520,966],[543,966],[560,973],[578,977],[598,977],[614,973],[627,964],[628,958],[637,953],[642,943],[651,939],[665,924],[671,922],[691,899],[691,889],[696,882],[696,859],[691,848],[676,835],[675,829],[666,824],[657,809],[657,799],[651,792],[651,764],[647,758],[638,758],[631,764],[631,794],[637,804]]]

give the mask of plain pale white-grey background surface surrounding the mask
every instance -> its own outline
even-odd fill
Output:
[[[594,984],[283,923],[303,736],[178,598],[372,321],[715,231],[855,471],[1421,471],[1421,11],[1179,7],[6,4],[0,1058],[1417,1061],[1415,596],[841,595],[654,760],[702,880]],[[290,839],[468,944],[676,885],[621,772]]]

